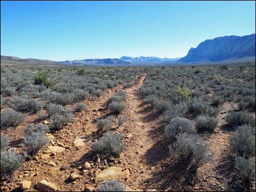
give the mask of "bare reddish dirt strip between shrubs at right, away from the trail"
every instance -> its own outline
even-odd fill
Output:
[[[220,106],[220,112],[217,116],[219,125],[215,129],[215,133],[210,134],[207,139],[212,158],[209,163],[198,169],[199,182],[194,187],[196,190],[227,190],[224,186],[231,177],[227,175],[230,172],[227,170],[232,169],[232,166],[228,160],[231,133],[225,128],[227,125],[225,117],[234,109],[237,109],[237,104],[233,102],[225,102]]]

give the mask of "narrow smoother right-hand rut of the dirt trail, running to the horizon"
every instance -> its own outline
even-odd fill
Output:
[[[145,184],[152,177],[153,168],[150,163],[150,149],[155,141],[151,137],[151,131],[157,125],[157,120],[150,120],[151,110],[148,104],[139,95],[139,88],[143,84],[145,75],[140,82],[130,89],[126,89],[126,123],[119,128],[119,132],[125,135],[127,148],[121,154],[123,167],[130,170],[129,179],[126,181],[131,189],[149,190],[149,184]]]

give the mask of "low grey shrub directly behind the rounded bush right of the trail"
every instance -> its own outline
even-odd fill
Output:
[[[187,103],[176,104],[175,106],[171,106],[166,112],[164,112],[160,119],[163,122],[170,122],[175,117],[184,117],[188,112]]]

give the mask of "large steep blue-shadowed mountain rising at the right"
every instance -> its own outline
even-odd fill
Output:
[[[187,55],[178,61],[183,63],[197,61],[217,62],[249,57],[255,57],[255,34],[222,36],[212,40],[205,40],[197,48],[191,48]]]

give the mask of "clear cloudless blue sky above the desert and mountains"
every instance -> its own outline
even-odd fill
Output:
[[[255,1],[1,1],[1,55],[20,58],[175,58],[252,33]]]

